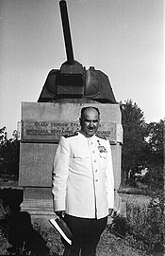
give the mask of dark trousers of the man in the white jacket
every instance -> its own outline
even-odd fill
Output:
[[[65,241],[64,256],[95,256],[100,236],[107,225],[107,217],[102,219],[79,218],[66,214],[64,217],[69,229],[73,233],[72,246]],[[81,254],[80,254],[81,251]]]

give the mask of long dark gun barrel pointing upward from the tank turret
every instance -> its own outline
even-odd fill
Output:
[[[68,61],[68,64],[74,64],[74,51],[73,51],[73,45],[72,45],[72,39],[71,39],[67,4],[65,0],[59,1],[59,8],[60,8],[60,15],[61,15],[61,21],[62,21],[62,27],[63,27],[67,61]]]

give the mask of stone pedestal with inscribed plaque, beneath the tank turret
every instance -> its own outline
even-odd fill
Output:
[[[101,123],[98,134],[111,144],[115,191],[121,183],[121,145],[123,129],[119,104],[85,102],[23,102],[21,120],[19,186],[24,188],[21,210],[32,215],[52,215],[52,165],[62,134],[80,129],[84,106],[98,107]]]

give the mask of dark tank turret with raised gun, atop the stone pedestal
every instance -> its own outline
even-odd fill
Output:
[[[60,69],[52,69],[42,87],[38,102],[61,99],[90,99],[101,103],[117,103],[107,75],[91,66],[88,70],[74,60],[68,11],[65,0],[59,1],[67,61]]]

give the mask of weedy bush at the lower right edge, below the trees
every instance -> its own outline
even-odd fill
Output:
[[[164,215],[163,195],[157,194],[148,206],[127,203],[126,218],[113,216],[108,230],[122,236],[131,247],[148,252],[163,251]]]

